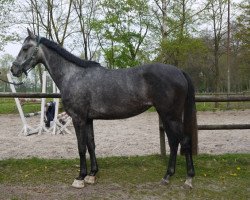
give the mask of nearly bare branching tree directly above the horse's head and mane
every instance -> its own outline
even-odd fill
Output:
[[[61,46],[65,39],[72,34],[69,24],[71,19],[73,0],[27,0],[26,4],[20,5],[19,10],[26,16],[22,23],[27,23],[39,35],[44,33]],[[22,19],[23,20],[23,19]]]

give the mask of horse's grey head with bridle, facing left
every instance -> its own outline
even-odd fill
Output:
[[[29,36],[24,40],[22,48],[11,67],[11,72],[16,77],[20,77],[22,73],[27,76],[27,71],[35,67],[40,60],[40,38],[35,36],[29,29],[27,30]]]

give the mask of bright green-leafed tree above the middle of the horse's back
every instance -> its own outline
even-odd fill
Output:
[[[94,25],[108,67],[131,67],[143,62],[141,51],[149,28],[147,1],[103,0],[101,7],[104,16]]]

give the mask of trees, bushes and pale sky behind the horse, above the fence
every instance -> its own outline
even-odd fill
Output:
[[[21,43],[26,28],[108,68],[163,62],[189,72],[198,92],[249,91],[249,1],[0,0],[0,50]],[[1,53],[5,78],[13,56]],[[43,66],[20,91],[40,91]],[[228,79],[228,70],[229,79]],[[8,91],[0,82],[0,91]]]

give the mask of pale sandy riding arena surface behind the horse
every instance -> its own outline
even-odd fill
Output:
[[[35,126],[39,116],[28,119]],[[198,124],[250,123],[250,110],[199,112]],[[23,136],[19,115],[0,115],[0,159],[78,158],[73,134]],[[94,122],[96,154],[104,156],[148,155],[160,152],[158,116],[145,112],[124,120]],[[250,130],[199,131],[199,153],[250,153]],[[167,151],[169,148],[167,146]]]

